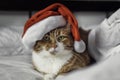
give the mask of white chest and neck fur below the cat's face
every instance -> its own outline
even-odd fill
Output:
[[[44,53],[47,53],[46,51],[43,51]],[[36,54],[36,52],[33,51],[33,62],[37,69],[41,72],[44,73],[49,73],[49,74],[56,74],[59,72],[61,67],[72,58],[72,52],[64,51],[63,53],[68,53],[66,55],[59,55],[59,56],[54,56],[50,55],[48,57],[43,57],[40,54]]]

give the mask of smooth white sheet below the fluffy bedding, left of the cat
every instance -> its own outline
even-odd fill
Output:
[[[31,55],[0,57],[0,80],[41,80],[34,70]]]

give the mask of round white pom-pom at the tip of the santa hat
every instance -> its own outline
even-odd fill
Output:
[[[78,53],[84,52],[86,49],[86,45],[85,45],[84,41],[83,40],[75,41],[74,42],[74,49]]]

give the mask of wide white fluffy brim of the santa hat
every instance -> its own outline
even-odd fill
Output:
[[[66,20],[63,16],[50,16],[38,23],[32,25],[24,34],[22,42],[28,49],[32,49],[37,40],[41,40],[43,36],[51,30],[66,25]]]

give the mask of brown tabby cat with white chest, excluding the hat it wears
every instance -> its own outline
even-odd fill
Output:
[[[70,25],[60,27],[37,40],[32,52],[33,65],[44,74],[44,80],[54,80],[58,75],[86,67],[90,63],[87,49],[83,53],[74,51],[74,40]],[[80,29],[81,38],[87,45],[88,33]]]

